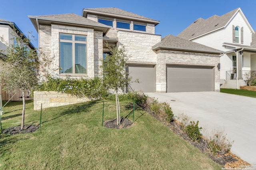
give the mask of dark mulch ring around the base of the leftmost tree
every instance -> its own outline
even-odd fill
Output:
[[[2,133],[15,135],[15,134],[24,134],[24,133],[32,133],[36,131],[39,127],[36,125],[24,125],[23,131],[20,130],[20,126],[9,127],[4,129]]]

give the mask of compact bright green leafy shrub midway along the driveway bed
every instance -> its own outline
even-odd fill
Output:
[[[202,127],[198,127],[199,121],[196,123],[193,121],[190,121],[190,124],[186,126],[186,132],[188,133],[188,136],[192,141],[200,141],[201,140],[201,133],[200,130]]]

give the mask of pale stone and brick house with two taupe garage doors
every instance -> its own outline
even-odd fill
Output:
[[[155,34],[160,21],[118,8],[84,9],[76,14],[28,16],[38,31],[39,47],[54,57],[52,76],[95,77],[110,45],[124,46],[127,71],[142,92],[219,91],[217,65],[223,53],[198,43]],[[188,81],[192,80],[192,81]]]

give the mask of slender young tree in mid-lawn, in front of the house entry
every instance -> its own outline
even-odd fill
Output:
[[[124,47],[118,48],[114,45],[106,44],[110,49],[110,55],[102,60],[102,76],[103,82],[107,89],[115,90],[116,94],[116,125],[120,124],[120,106],[118,99],[118,89],[124,90],[126,85],[131,82],[129,73],[126,72],[126,62],[128,57]],[[118,115],[119,112],[119,115]]]

